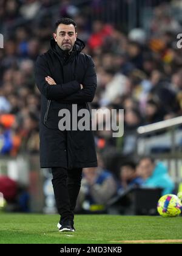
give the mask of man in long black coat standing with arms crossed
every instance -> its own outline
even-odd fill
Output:
[[[61,18],[56,22],[50,46],[49,51],[39,55],[35,66],[36,85],[41,92],[40,163],[41,168],[52,170],[61,216],[59,231],[73,232],[73,210],[82,169],[97,166],[95,142],[91,128],[60,130],[58,113],[69,110],[72,123],[73,104],[77,104],[77,112],[83,108],[89,110],[87,102],[92,102],[95,95],[96,73],[92,57],[81,53],[85,45],[77,38],[73,20]]]

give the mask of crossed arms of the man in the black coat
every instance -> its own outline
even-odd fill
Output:
[[[36,85],[39,91],[50,100],[83,103],[91,102],[96,90],[96,73],[93,60],[90,58],[87,66],[83,84],[76,80],[65,84],[56,84],[55,80],[50,76],[46,63],[39,57],[36,62],[35,69]]]

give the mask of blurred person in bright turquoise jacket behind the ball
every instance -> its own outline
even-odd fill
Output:
[[[163,188],[163,195],[173,193],[174,182],[162,162],[155,163],[152,157],[142,157],[137,171],[144,180],[143,187]]]

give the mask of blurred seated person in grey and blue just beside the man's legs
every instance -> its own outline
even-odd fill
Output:
[[[76,210],[104,212],[107,201],[116,194],[117,184],[112,173],[104,168],[98,155],[97,168],[84,168]]]

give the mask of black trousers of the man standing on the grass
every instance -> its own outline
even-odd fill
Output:
[[[58,213],[61,221],[74,219],[76,199],[81,187],[83,168],[66,169],[64,167],[53,167],[52,184],[55,194]]]

